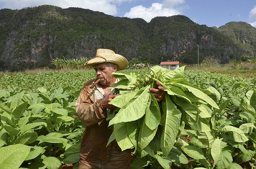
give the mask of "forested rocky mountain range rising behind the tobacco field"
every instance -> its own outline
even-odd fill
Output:
[[[197,63],[199,45],[221,63],[255,57],[256,28],[245,22],[207,27],[186,16],[156,17],[147,23],[82,8],[42,5],[0,9],[0,70],[49,66],[56,58],[92,58],[98,48],[112,49],[130,61]]]

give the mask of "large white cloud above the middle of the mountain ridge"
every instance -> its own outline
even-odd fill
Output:
[[[153,3],[149,8],[139,5],[131,8],[129,12],[124,14],[124,17],[142,18],[147,22],[150,22],[152,18],[157,16],[180,15],[182,14],[182,9],[184,7],[175,8],[175,6],[184,2],[184,0],[163,0],[162,3]]]

